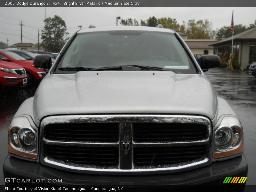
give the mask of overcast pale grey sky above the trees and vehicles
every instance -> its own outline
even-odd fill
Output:
[[[116,17],[121,19],[129,17],[146,20],[151,16],[156,18],[175,18],[179,23],[183,20],[208,19],[213,24],[213,29],[231,23],[232,10],[236,24],[249,25],[256,20],[255,7],[46,7],[46,17],[60,16],[65,20],[68,33],[73,35],[78,26],[87,28],[90,24],[96,27],[115,26]],[[22,27],[23,43],[37,42],[37,29],[44,27],[44,7],[1,7],[0,8],[0,41],[9,45],[20,43],[20,20]],[[39,33],[41,34],[41,31]],[[41,42],[41,36],[39,42]]]

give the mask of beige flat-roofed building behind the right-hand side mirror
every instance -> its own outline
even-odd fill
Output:
[[[213,46],[209,46],[217,42],[216,39],[185,39],[191,52],[195,54],[213,54]]]

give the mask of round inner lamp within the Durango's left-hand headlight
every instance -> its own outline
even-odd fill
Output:
[[[36,133],[31,129],[20,129],[18,140],[20,147],[26,151],[32,151],[36,148]]]

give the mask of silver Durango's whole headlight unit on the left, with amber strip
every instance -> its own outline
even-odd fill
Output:
[[[8,151],[15,156],[37,158],[37,128],[29,116],[12,119],[8,133]]]

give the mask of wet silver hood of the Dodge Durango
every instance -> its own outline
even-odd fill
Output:
[[[206,76],[164,71],[47,75],[34,98],[38,120],[50,115],[119,113],[193,114],[213,119],[216,109],[217,98]]]

